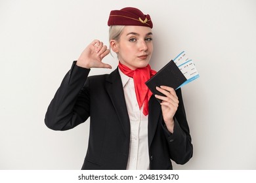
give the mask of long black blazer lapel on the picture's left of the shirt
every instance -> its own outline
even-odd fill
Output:
[[[110,96],[110,99],[112,100],[114,108],[116,109],[117,116],[121,122],[125,135],[130,137],[129,115],[127,112],[125,95],[123,93],[123,86],[118,69],[110,73],[110,75],[106,78],[106,90]]]

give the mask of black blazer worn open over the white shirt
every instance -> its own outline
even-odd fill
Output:
[[[88,76],[90,69],[75,65],[66,74],[45,115],[54,130],[72,129],[90,117],[90,135],[82,169],[126,169],[130,123],[118,69],[110,75]],[[193,146],[181,90],[176,91],[179,108],[174,132],[163,122],[161,106],[152,95],[149,101],[148,153],[150,169],[172,169],[192,158]]]

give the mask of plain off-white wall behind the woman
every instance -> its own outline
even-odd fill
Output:
[[[182,88],[194,156],[174,169],[256,169],[253,0],[0,0],[0,169],[81,169],[89,120],[52,131],[45,112],[87,44],[108,45],[108,15],[123,7],[152,17],[153,69],[185,50],[200,73]]]

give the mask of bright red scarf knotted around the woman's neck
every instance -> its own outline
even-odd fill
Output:
[[[133,78],[139,107],[141,108],[144,104],[143,114],[145,116],[148,115],[148,101],[152,95],[152,92],[150,92],[145,82],[154,76],[156,71],[152,70],[149,64],[146,67],[131,70],[129,67],[119,62],[118,67],[123,74]]]

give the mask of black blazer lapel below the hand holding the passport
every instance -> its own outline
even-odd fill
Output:
[[[154,139],[158,121],[160,120],[161,106],[154,95],[148,101],[148,148]]]

